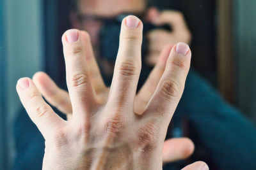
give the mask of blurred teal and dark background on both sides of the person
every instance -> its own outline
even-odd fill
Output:
[[[256,123],[256,1],[150,3],[182,11],[193,35],[193,67]],[[0,169],[12,167],[15,157],[13,122],[21,107],[17,80],[36,71],[49,73],[57,83],[65,79],[60,76],[65,71],[61,35],[71,28],[70,6],[67,0],[0,1]]]

